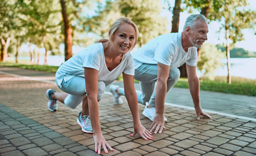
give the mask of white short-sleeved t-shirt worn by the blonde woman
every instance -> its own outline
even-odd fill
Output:
[[[61,86],[63,79],[67,82],[74,76],[84,77],[84,68],[98,70],[98,81],[103,81],[106,86],[115,81],[122,72],[128,75],[135,74],[131,53],[123,55],[121,63],[110,72],[106,67],[103,44],[97,43],[89,45],[59,67],[56,72],[57,85]]]

